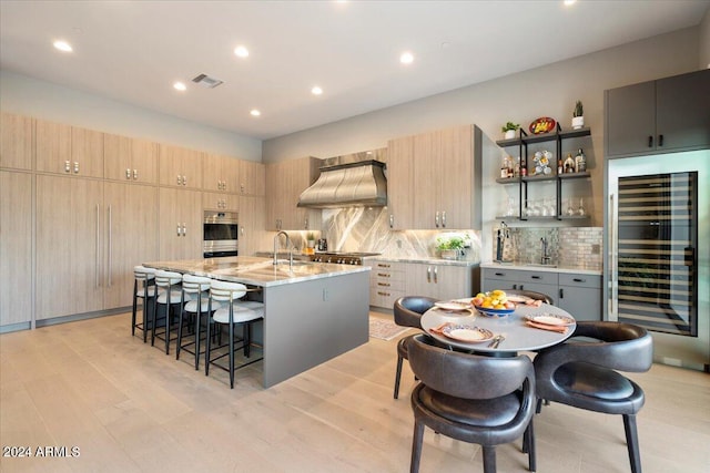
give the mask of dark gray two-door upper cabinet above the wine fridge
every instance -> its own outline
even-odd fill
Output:
[[[710,146],[710,70],[605,91],[608,157]]]

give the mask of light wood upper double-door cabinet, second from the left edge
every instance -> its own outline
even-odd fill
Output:
[[[103,177],[103,133],[36,121],[37,171]]]

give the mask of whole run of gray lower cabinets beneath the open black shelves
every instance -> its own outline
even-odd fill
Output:
[[[600,275],[484,268],[481,288],[542,292],[577,320],[601,320]]]

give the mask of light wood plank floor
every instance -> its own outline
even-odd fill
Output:
[[[372,313],[373,317],[389,317]],[[313,343],[317,350],[317,341]],[[396,340],[371,341],[268,390],[261,363],[205,378],[130,336],[130,315],[0,336],[0,440],[78,446],[78,457],[1,457],[2,472],[405,472],[414,385]],[[643,469],[710,471],[710,376],[655,366],[633,378]],[[619,417],[552,404],[536,417],[538,472],[628,472]],[[422,472],[483,471],[477,445],[425,434]],[[519,442],[499,472],[525,472]]]

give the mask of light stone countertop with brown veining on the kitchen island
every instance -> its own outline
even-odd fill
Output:
[[[258,287],[281,286],[371,270],[367,266],[310,261],[294,261],[293,268],[290,268],[287,260],[274,266],[271,258],[255,256],[148,261],[143,263],[143,266]]]

